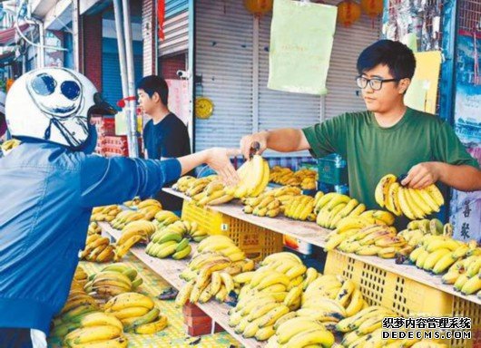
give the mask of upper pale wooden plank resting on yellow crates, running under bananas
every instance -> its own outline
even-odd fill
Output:
[[[189,200],[191,199],[183,195],[181,192],[175,191],[173,189],[163,190],[180,198]],[[284,217],[260,218],[255,217],[251,214],[244,214],[242,212],[241,204],[235,202],[230,202],[229,204],[224,204],[221,206],[211,206],[209,208],[222,214],[229,215],[232,218],[239,218],[243,221],[249,222],[250,224],[268,228],[274,232],[278,232],[286,236],[297,237],[304,242],[322,248],[326,246],[326,238],[328,237],[330,232],[329,229],[319,227],[313,222],[294,221]],[[341,253],[338,250],[334,250],[331,252]],[[402,275],[408,279],[412,279],[421,284],[431,286],[433,288],[436,288],[437,290],[444,291],[447,294],[455,295],[456,297],[462,298],[466,301],[470,301],[475,304],[481,304],[481,299],[477,298],[476,295],[462,295],[461,293],[455,291],[453,285],[443,284],[441,280],[441,275],[431,275],[421,269],[418,269],[416,266],[397,265],[394,259],[384,259],[377,256],[358,256],[356,254],[344,255],[362,261],[368,265],[377,266],[378,268],[395,273],[397,275]]]

